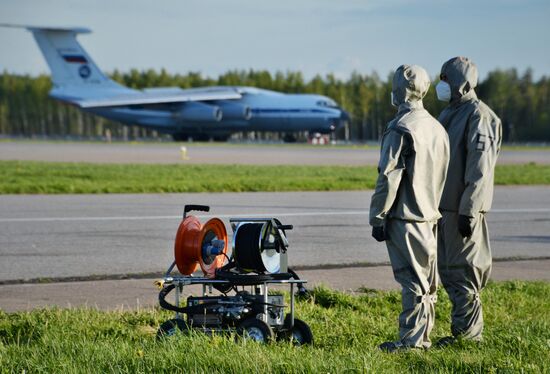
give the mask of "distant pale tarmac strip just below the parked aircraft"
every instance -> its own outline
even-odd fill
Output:
[[[180,147],[187,148],[182,160]],[[93,163],[376,165],[378,149],[193,143],[0,142],[0,160]],[[499,164],[550,164],[550,150],[506,150]]]

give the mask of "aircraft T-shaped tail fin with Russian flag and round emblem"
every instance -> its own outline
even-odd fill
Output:
[[[52,73],[55,88],[122,89],[123,86],[105,76],[76,40],[78,34],[91,33],[81,27],[35,27],[0,24],[25,28],[32,32]]]

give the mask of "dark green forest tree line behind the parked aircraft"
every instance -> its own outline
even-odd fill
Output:
[[[160,71],[114,71],[111,77],[131,88],[211,85],[242,85],[287,93],[318,93],[336,100],[351,115],[347,136],[351,140],[376,140],[395,115],[390,103],[392,74],[385,79],[376,73],[354,72],[347,79],[317,75],[304,79],[300,72],[270,73],[265,70],[237,70],[217,79],[200,73],[170,74]],[[100,138],[108,130],[116,138],[158,138],[155,131],[105,120],[56,102],[48,97],[49,76],[0,74],[0,134],[24,137]],[[531,70],[494,70],[476,88],[478,96],[502,119],[504,140],[508,142],[550,141],[550,80],[533,79]],[[424,106],[437,117],[444,103],[430,88]],[[337,134],[344,138],[344,133]]]

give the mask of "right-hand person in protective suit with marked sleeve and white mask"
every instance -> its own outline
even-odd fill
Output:
[[[449,135],[451,159],[439,205],[438,270],[452,302],[452,336],[481,340],[483,313],[480,292],[491,273],[491,247],[485,214],[493,200],[494,172],[502,142],[495,113],[476,96],[478,72],[465,57],[441,68],[438,99],[449,105],[439,121]]]

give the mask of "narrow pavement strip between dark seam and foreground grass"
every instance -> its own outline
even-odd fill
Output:
[[[550,281],[549,269],[550,260],[496,262],[491,279]],[[399,289],[399,285],[393,280],[390,266],[301,270],[298,273],[302,279],[308,281],[306,286],[310,289],[320,284],[351,293],[362,292],[362,289]],[[101,310],[153,308],[158,305],[158,289],[153,285],[154,280],[0,285],[0,310],[9,313],[54,306]],[[183,296],[200,295],[202,292],[200,286],[188,286],[183,291]],[[172,296],[169,300],[173,300]]]

